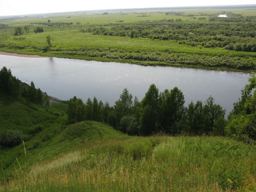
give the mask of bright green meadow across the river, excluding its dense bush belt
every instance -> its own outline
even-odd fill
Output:
[[[166,12],[182,14],[166,15]],[[130,38],[129,36],[94,35],[91,32],[81,32],[81,30],[94,27],[147,26],[154,23],[158,23],[162,27],[172,25],[172,23],[175,25],[201,23],[215,28],[214,26],[219,25],[219,22],[209,22],[209,18],[211,15],[218,15],[222,12],[241,14],[244,17],[256,16],[253,9],[190,9],[108,12],[107,15],[103,15],[103,12],[78,12],[76,14],[49,14],[44,18],[41,16],[41,18],[28,16],[27,19],[25,17],[0,18],[0,23],[8,25],[8,27],[0,28],[0,51],[141,65],[255,71],[256,52],[234,51],[224,49],[224,47],[191,46],[181,44],[177,40]],[[204,19],[198,20],[200,17],[204,17]],[[173,22],[163,22],[164,19],[173,20]],[[57,22],[72,22],[72,24],[53,26],[40,24],[47,23],[47,20],[51,20],[53,24]],[[24,32],[20,36],[13,35],[14,27],[25,25],[30,26],[28,34]],[[37,26],[43,26],[44,32],[34,33],[33,30]],[[49,35],[51,36],[51,48],[45,50],[47,47],[46,36]]]

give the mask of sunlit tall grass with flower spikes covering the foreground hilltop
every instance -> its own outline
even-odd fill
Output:
[[[154,146],[154,147],[153,147]],[[256,150],[222,137],[131,137],[60,156],[3,191],[254,191]]]

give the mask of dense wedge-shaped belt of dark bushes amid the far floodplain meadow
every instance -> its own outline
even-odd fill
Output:
[[[200,18],[205,19],[205,18]],[[137,37],[159,39],[159,40],[177,40],[180,44],[192,46],[201,45],[204,47],[225,47],[232,50],[232,44],[241,44],[248,48],[235,49],[237,51],[256,52],[256,29],[253,22],[225,23],[167,23],[172,20],[160,20],[163,23],[138,23],[138,24],[116,24],[101,27],[88,27],[81,30],[90,32],[94,35],[109,36],[131,36],[136,33]],[[176,21],[181,21],[177,19]]]

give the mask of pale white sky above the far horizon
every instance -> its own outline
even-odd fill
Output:
[[[255,0],[0,0],[0,15],[67,12],[96,9],[255,4]]]

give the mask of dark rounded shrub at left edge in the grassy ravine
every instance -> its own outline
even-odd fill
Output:
[[[18,130],[7,130],[0,134],[0,146],[14,147],[19,145],[22,139],[22,132]]]

